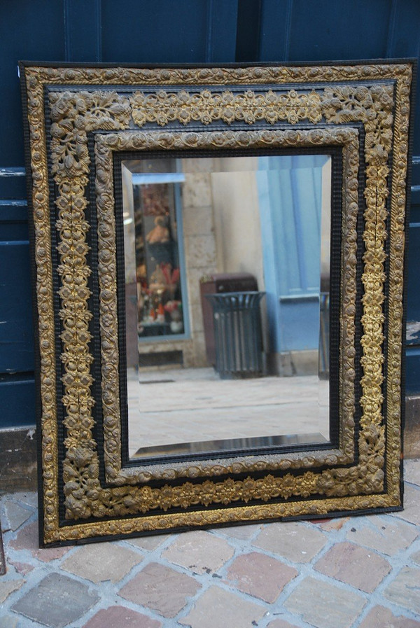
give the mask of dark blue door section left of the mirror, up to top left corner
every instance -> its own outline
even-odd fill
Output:
[[[34,342],[18,61],[64,61],[64,0],[0,2],[0,428],[34,425]]]

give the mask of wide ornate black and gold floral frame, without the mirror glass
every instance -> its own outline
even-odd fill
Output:
[[[21,76],[36,261],[41,543],[400,509],[412,64],[200,69],[22,64]],[[342,151],[337,447],[125,465],[114,156],[239,149],[269,155],[273,149],[329,146]],[[87,212],[92,203],[93,240]],[[92,242],[97,242],[94,264]],[[99,286],[97,305],[92,277]],[[99,323],[98,338],[92,337],[93,320]],[[99,382],[93,340],[100,345]],[[93,412],[98,390],[100,425]]]

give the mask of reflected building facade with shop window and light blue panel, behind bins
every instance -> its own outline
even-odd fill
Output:
[[[123,162],[127,360],[209,365],[200,280],[250,273],[269,375],[328,376],[328,155]]]

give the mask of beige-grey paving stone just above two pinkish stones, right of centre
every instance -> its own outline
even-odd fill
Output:
[[[326,542],[325,534],[315,526],[309,527],[302,522],[284,522],[265,526],[252,544],[288,560],[307,563],[322,550]]]

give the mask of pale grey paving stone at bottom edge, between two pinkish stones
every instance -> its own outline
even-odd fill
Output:
[[[244,600],[221,587],[210,587],[195,602],[193,610],[178,620],[191,628],[242,628],[257,625],[265,608]]]

